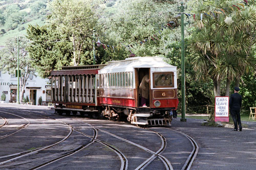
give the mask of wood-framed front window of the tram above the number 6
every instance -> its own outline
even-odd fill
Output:
[[[174,87],[174,72],[153,72],[153,87]]]

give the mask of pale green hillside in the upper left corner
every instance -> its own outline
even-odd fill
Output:
[[[0,0],[0,46],[26,34],[28,25],[43,25],[49,0]]]

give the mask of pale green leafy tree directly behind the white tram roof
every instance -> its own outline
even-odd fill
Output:
[[[99,38],[111,39],[115,45],[124,48],[125,57],[131,53],[142,57],[162,55],[165,42],[172,34],[167,23],[176,21],[173,17],[176,9],[176,5],[157,1],[122,1],[118,8],[106,10],[106,17],[99,19],[108,35],[99,35]],[[174,27],[175,23],[172,25]]]

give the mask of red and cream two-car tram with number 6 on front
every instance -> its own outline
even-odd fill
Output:
[[[148,75],[148,99],[139,87]],[[106,65],[69,66],[52,71],[52,101],[58,114],[126,116],[136,125],[169,125],[177,109],[177,67],[161,57],[134,57]]]

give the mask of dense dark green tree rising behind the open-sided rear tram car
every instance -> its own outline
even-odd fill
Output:
[[[47,78],[51,70],[72,62],[72,42],[67,34],[56,32],[56,26],[29,25],[27,38],[31,41],[26,49],[39,76]]]

